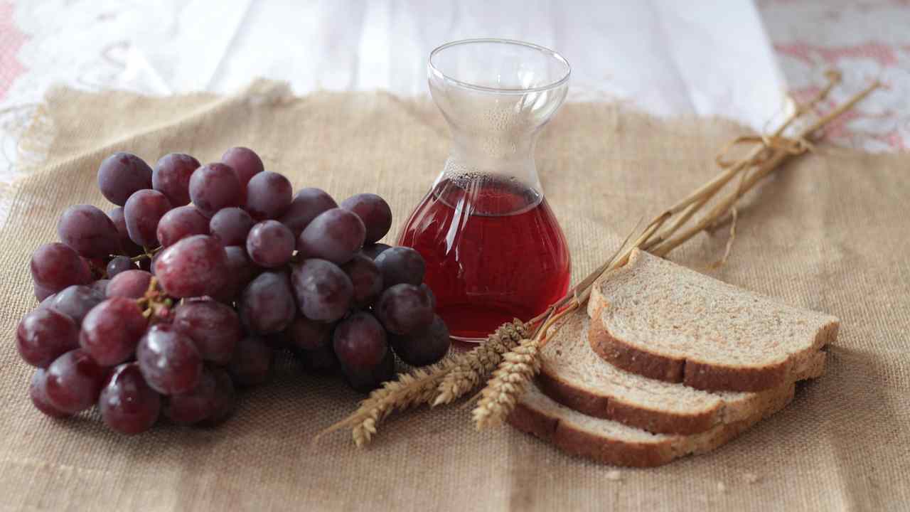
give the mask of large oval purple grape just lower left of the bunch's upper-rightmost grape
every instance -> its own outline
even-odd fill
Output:
[[[300,233],[297,250],[302,258],[320,258],[340,265],[360,250],[365,233],[356,213],[333,208],[320,213]]]

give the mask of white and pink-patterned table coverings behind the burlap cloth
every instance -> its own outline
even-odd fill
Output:
[[[40,148],[18,144],[48,87],[167,95],[228,92],[254,77],[295,92],[427,94],[426,56],[478,36],[528,40],[572,64],[571,101],[618,100],[656,115],[733,118],[756,130],[844,72],[832,108],[885,88],[828,129],[872,151],[910,146],[906,0],[689,3],[508,0],[0,0],[0,182]]]

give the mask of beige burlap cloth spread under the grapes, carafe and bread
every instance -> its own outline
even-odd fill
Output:
[[[397,230],[440,170],[449,133],[429,102],[385,94],[291,97],[258,83],[238,97],[137,97],[56,90],[29,140],[49,154],[12,189],[2,234],[0,509],[604,509],[879,510],[910,500],[910,159],[820,148],[741,209],[730,261],[713,275],[842,321],[828,373],[783,412],[713,454],[617,470],[567,456],[509,427],[477,433],[457,407],[396,416],[368,449],[347,433],[310,438],[359,396],[303,376],[291,361],[244,394],[215,430],[157,425],[111,434],[96,415],[54,421],[26,390],[15,351],[35,305],[27,264],[56,239],[69,204],[106,201],[96,169],[130,150],[200,160],[256,148],[295,189],[343,199],[373,191]],[[52,132],[47,130],[52,128]],[[734,135],[716,120],[662,121],[610,105],[567,105],[538,145],[541,181],[561,219],[573,274],[590,271],[642,216],[713,176]],[[27,140],[26,140],[27,141]],[[672,254],[704,268],[726,232]]]

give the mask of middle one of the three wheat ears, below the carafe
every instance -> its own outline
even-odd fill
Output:
[[[432,405],[450,404],[469,393],[480,384],[481,379],[496,369],[503,353],[510,352],[530,334],[529,325],[517,318],[512,323],[503,323],[485,343],[460,357],[459,362],[442,378]]]

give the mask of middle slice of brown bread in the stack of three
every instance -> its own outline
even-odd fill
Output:
[[[747,420],[788,394],[792,382],[758,393],[708,392],[625,372],[591,351],[589,320],[574,312],[541,350],[538,384],[556,402],[585,415],[616,420],[649,432],[697,434],[716,425]],[[598,337],[599,322],[590,333]],[[602,330],[602,328],[601,328]],[[816,352],[795,380],[824,373],[825,353]]]

